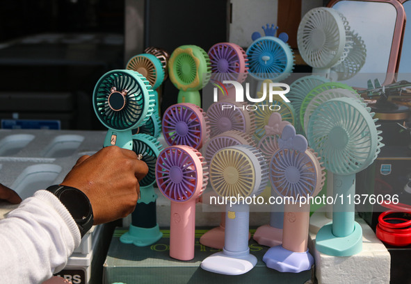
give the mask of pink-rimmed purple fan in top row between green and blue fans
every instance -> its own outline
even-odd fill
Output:
[[[231,42],[214,44],[207,53],[211,62],[211,80],[216,83],[236,81],[243,83],[248,74],[248,58],[239,45]],[[234,99],[235,89],[232,84],[224,84],[225,92],[221,92],[219,99],[225,96]],[[221,88],[220,90],[223,90]]]

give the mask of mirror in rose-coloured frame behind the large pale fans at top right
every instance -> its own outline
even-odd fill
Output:
[[[329,7],[341,12],[366,45],[366,61],[358,74],[346,81],[353,87],[367,87],[367,80],[378,78],[386,85],[394,81],[398,51],[405,26],[405,13],[396,0],[334,0]]]

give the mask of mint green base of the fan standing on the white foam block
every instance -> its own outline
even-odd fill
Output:
[[[362,228],[354,222],[354,231],[346,237],[332,234],[332,224],[321,228],[316,235],[316,250],[328,256],[353,256],[362,251]]]

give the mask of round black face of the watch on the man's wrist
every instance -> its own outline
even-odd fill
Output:
[[[91,206],[87,197],[72,188],[66,188],[60,194],[60,201],[69,210],[73,219],[81,223],[82,220],[86,222],[87,217],[91,214]]]

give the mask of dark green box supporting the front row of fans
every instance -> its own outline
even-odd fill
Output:
[[[200,268],[204,258],[218,251],[204,247],[198,240],[206,229],[195,231],[195,258],[180,261],[168,255],[170,230],[161,230],[163,237],[150,247],[136,247],[133,244],[122,244],[120,236],[127,230],[116,228],[113,233],[107,258],[104,262],[104,283],[314,283],[314,267],[298,274],[277,272],[266,267],[262,261],[268,247],[250,240],[250,253],[257,257],[257,265],[248,273],[239,276],[213,274]],[[254,233],[255,230],[250,230]]]

